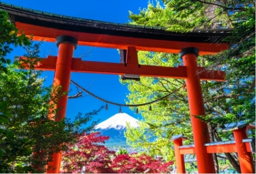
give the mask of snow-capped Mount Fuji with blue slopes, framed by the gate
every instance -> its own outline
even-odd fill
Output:
[[[127,123],[132,127],[139,126],[139,120],[127,113],[118,113],[94,126],[94,130],[99,131],[102,135],[109,136],[109,140],[104,144],[105,146],[127,147],[126,138],[124,137]]]

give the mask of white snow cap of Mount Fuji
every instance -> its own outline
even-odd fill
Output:
[[[132,127],[138,127],[139,120],[131,117],[127,113],[118,113],[108,118],[104,122],[99,123],[94,129],[116,129],[123,130],[126,128],[126,123],[129,123]]]

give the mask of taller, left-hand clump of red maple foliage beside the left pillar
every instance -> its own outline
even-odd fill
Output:
[[[86,166],[86,173],[114,173],[109,164],[113,156],[116,156],[115,152],[108,150],[104,145],[99,145],[109,139],[108,136],[99,134],[83,134],[76,145],[63,152],[61,172],[77,173]]]

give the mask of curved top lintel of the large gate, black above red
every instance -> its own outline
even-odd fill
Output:
[[[104,48],[127,49],[178,53],[188,47],[196,47],[199,54],[214,54],[228,49],[223,38],[230,35],[230,29],[196,30],[188,33],[166,31],[161,27],[100,22],[74,17],[65,17],[38,10],[13,6],[0,2],[8,12],[12,22],[33,40],[55,42],[57,36],[69,35],[78,40],[79,45]]]

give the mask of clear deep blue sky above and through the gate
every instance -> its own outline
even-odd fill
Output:
[[[104,22],[113,23],[128,23],[129,10],[133,13],[139,13],[139,8],[147,8],[148,0],[108,0],[108,1],[56,1],[56,0],[44,0],[44,1],[2,1],[16,6],[31,8],[35,10],[41,10],[43,12],[56,13],[62,15],[68,15],[72,17],[79,17],[92,20],[101,20]],[[57,46],[55,43],[42,44],[42,56],[57,55]],[[87,52],[89,53],[87,54]],[[10,55],[9,59],[13,59],[14,56],[22,56],[24,51],[22,49],[15,49]],[[104,49],[88,46],[78,46],[74,51],[74,57],[82,57],[82,60],[91,61],[106,61],[106,62],[119,62],[120,57],[117,49]],[[53,81],[53,71],[46,71],[43,74],[46,77],[46,86],[51,85]],[[119,83],[119,77],[117,75],[102,75],[96,73],[74,73],[72,72],[71,79],[79,83],[79,85],[87,88],[88,91],[102,97],[108,101],[125,104],[125,99],[129,93],[126,86]],[[71,85],[71,94],[76,94],[77,89],[74,85]],[[86,93],[83,92],[83,95]],[[66,116],[72,118],[77,115],[78,112],[83,114],[98,109],[106,103],[99,101],[92,96],[86,96],[82,98],[69,99]],[[103,109],[95,116],[95,120],[106,120],[112,115],[119,112],[118,106],[108,104],[108,110]],[[122,112],[131,115],[134,118],[140,118],[139,114],[135,114],[135,111],[130,110],[128,107],[122,107]]]

